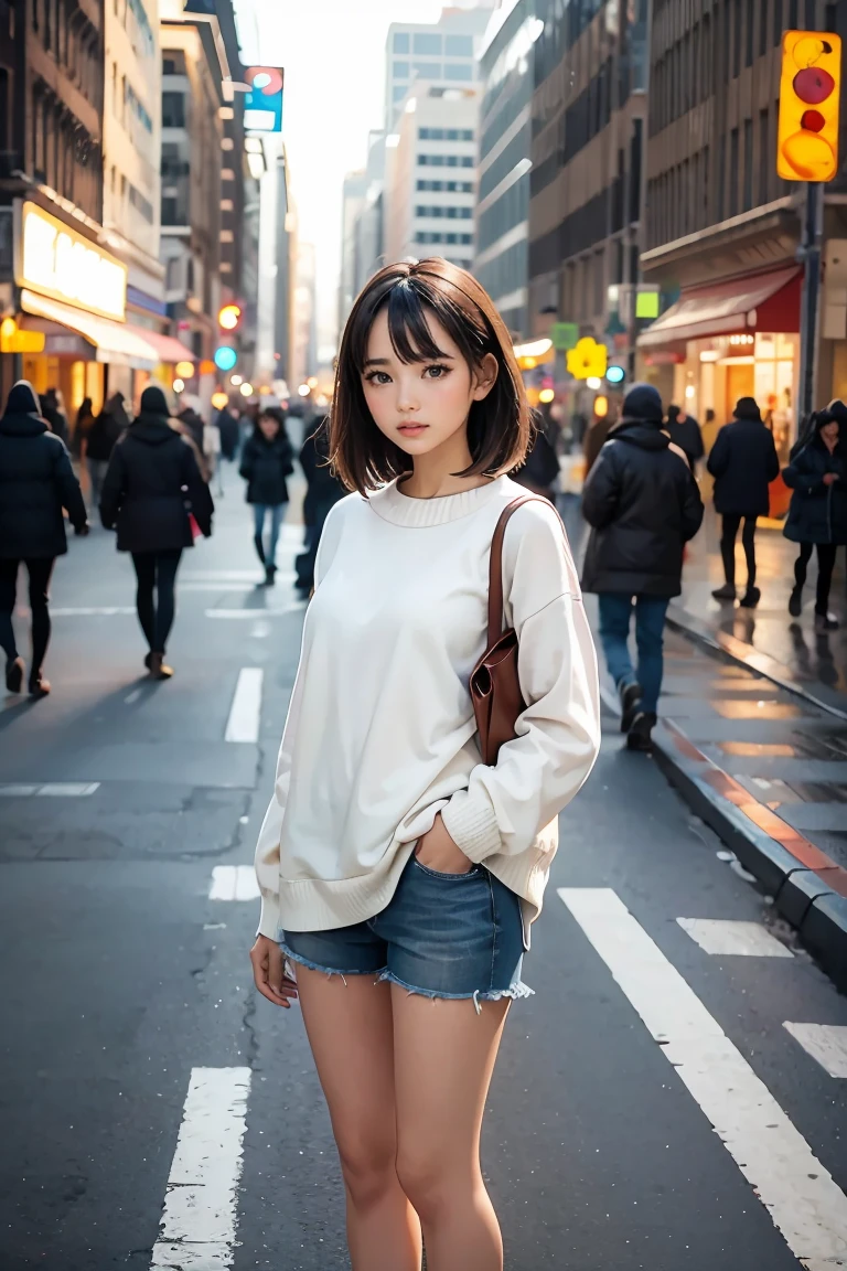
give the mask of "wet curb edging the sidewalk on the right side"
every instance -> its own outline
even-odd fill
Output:
[[[668,782],[773,896],[777,911],[847,990],[847,869],[717,766],[672,721],[653,732]]]

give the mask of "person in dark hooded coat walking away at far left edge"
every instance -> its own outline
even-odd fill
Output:
[[[50,643],[50,577],[56,557],[67,552],[62,508],[75,531],[88,534],[83,492],[65,444],[42,418],[32,385],[19,380],[0,418],[0,646],[9,693],[20,693],[24,675],[11,624],[22,561],[29,574],[32,611],[29,691],[33,697],[50,693],[42,666]]]

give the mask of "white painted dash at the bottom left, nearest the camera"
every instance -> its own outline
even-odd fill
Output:
[[[249,1068],[193,1068],[151,1271],[232,1266]]]

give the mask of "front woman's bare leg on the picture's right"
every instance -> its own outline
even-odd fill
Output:
[[[428,1271],[502,1271],[503,1240],[479,1162],[509,999],[444,1000],[391,986],[397,1174],[423,1228]]]

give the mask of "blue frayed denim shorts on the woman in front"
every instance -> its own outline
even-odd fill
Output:
[[[328,975],[372,975],[427,998],[527,998],[521,981],[523,925],[513,891],[474,866],[447,874],[417,857],[381,913],[328,932],[283,932],[292,961]]]

